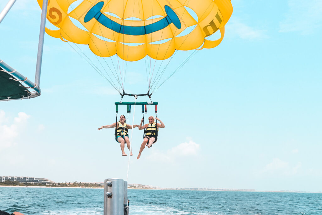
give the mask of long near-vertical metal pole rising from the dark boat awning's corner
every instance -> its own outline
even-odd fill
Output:
[[[40,84],[40,72],[41,72],[41,64],[43,60],[43,40],[45,36],[47,5],[48,5],[48,0],[43,0],[43,8],[41,12],[40,31],[39,31],[36,74],[35,74],[35,84],[37,84],[37,86],[39,86]]]

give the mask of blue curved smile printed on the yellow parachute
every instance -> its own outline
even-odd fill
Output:
[[[176,28],[181,28],[181,22],[179,17],[175,14],[175,12],[171,9],[171,7],[165,5],[164,9],[166,11],[167,16],[163,19],[144,26],[128,26],[128,25],[121,25],[113,20],[109,19],[107,16],[102,14],[100,11],[104,6],[104,2],[99,2],[94,5],[84,17],[84,22],[89,22],[91,19],[95,18],[100,24],[104,25],[105,27],[121,33],[121,34],[128,34],[128,35],[144,35],[144,34],[151,34],[153,32],[159,31],[167,27],[169,24],[173,23]]]

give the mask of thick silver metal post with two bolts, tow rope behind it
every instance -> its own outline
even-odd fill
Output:
[[[128,182],[123,179],[105,179],[104,215],[128,214]]]

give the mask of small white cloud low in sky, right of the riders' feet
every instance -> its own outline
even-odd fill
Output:
[[[196,156],[199,152],[199,149],[199,144],[193,142],[192,140],[188,140],[188,142],[180,143],[166,152],[154,151],[149,155],[148,159],[159,160],[161,162],[172,162],[178,157],[182,159],[183,157]]]

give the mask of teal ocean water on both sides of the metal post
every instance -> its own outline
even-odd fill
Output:
[[[0,187],[0,210],[103,214],[103,189]],[[128,190],[130,214],[322,215],[322,193]]]

